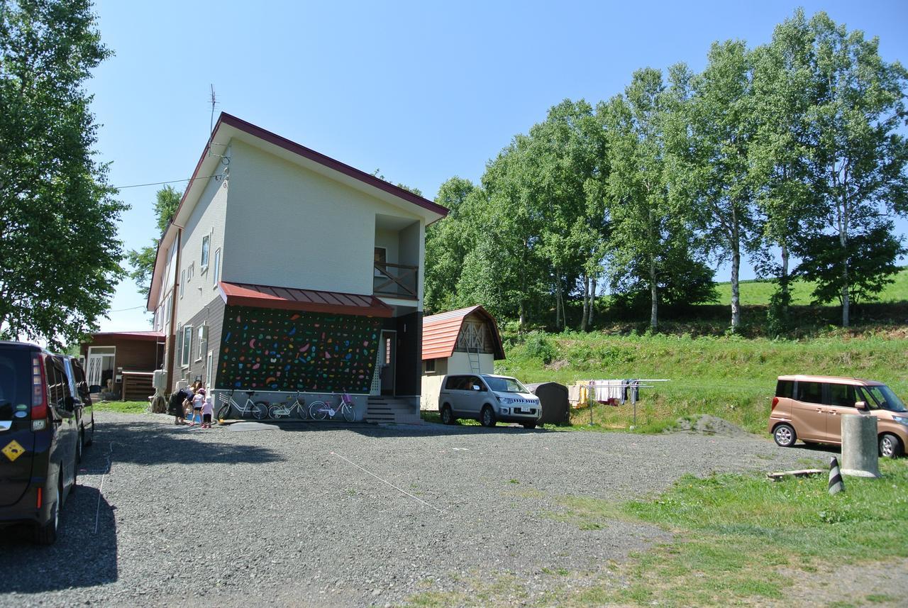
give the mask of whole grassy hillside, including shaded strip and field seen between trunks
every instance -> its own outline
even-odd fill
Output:
[[[730,289],[720,285],[727,302]],[[812,307],[811,287],[795,285],[795,315],[802,329],[796,339],[760,335],[765,304],[774,286],[763,281],[742,285],[744,336],[726,336],[725,305],[693,307],[683,319],[666,321],[662,333],[648,334],[646,322],[613,323],[589,333],[505,331],[507,359],[496,371],[525,382],[581,379],[666,378],[648,388],[637,407],[637,430],[657,432],[680,417],[710,414],[746,430],[764,433],[775,378],[782,374],[842,375],[881,380],[908,401],[908,270],[883,292],[883,303],[864,305],[864,318],[853,329],[835,328],[837,307]],[[509,324],[502,324],[510,328]],[[627,428],[629,406],[594,407],[598,428]],[[587,410],[574,422],[589,423]]]

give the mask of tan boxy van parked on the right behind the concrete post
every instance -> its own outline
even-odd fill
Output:
[[[834,376],[779,376],[769,432],[775,443],[842,444],[842,417],[877,418],[880,456],[896,458],[908,445],[908,407],[882,382]]]

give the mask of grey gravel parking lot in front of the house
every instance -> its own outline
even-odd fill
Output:
[[[559,498],[826,456],[753,436],[172,420],[98,415],[57,544],[0,540],[0,606],[384,606],[500,575],[532,599],[547,572],[620,563],[665,534],[580,529]]]

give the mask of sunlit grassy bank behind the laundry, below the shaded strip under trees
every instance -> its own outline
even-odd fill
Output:
[[[677,418],[711,414],[751,432],[765,431],[767,412],[782,374],[824,374],[881,380],[908,399],[908,339],[905,329],[854,336],[831,332],[810,340],[530,333],[506,339],[508,358],[498,373],[524,382],[581,379],[666,378],[641,389],[637,430],[658,432]],[[633,410],[593,408],[593,427],[627,428]],[[587,409],[576,410],[575,425],[588,425]]]

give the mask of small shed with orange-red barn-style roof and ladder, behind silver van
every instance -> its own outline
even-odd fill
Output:
[[[422,319],[422,409],[439,408],[446,374],[491,374],[505,358],[498,323],[486,309],[471,306]]]

